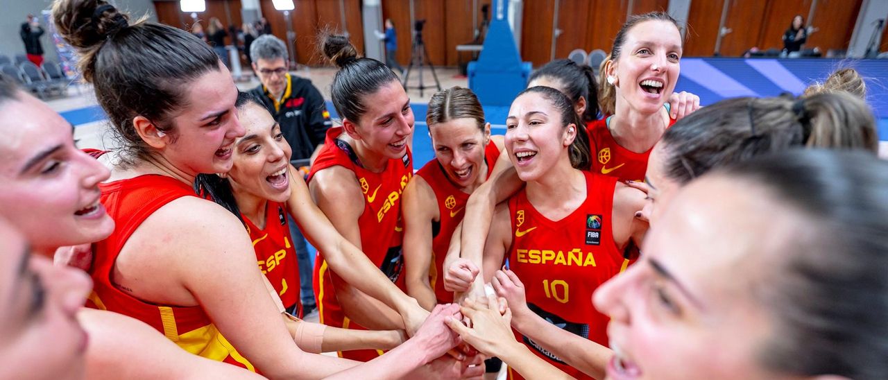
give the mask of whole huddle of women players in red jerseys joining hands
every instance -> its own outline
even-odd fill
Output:
[[[888,378],[888,163],[853,70],[700,107],[676,21],[636,15],[600,78],[536,70],[503,136],[435,93],[414,162],[398,77],[327,36],[341,125],[303,175],[197,37],[102,0],[52,18],[119,147],[0,76],[2,378]]]

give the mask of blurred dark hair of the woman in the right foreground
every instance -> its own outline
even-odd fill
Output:
[[[765,257],[771,273],[754,294],[775,326],[757,360],[781,375],[888,378],[888,162],[795,149],[721,174],[805,221]]]

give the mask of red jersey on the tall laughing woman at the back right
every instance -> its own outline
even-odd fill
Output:
[[[592,154],[591,170],[620,180],[643,181],[647,170],[647,157],[651,155],[654,147],[642,153],[635,153],[620,146],[607,128],[611,117],[613,116],[586,124]],[[675,119],[670,119],[669,127],[674,123]]]

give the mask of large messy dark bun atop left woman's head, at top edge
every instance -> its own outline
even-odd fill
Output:
[[[52,6],[52,18],[65,41],[82,50],[130,26],[129,15],[102,0],[58,0]]]

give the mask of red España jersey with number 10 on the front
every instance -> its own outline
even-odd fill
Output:
[[[530,310],[561,329],[607,346],[609,319],[592,306],[592,292],[625,270],[629,260],[617,249],[611,229],[617,179],[583,174],[586,200],[559,221],[535,210],[525,190],[512,195],[508,201],[513,231],[509,267],[524,282]],[[568,375],[590,378],[530,338],[517,331],[515,336]],[[521,378],[511,368],[510,375]]]

